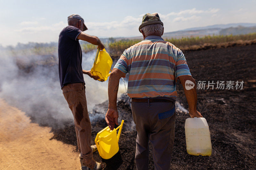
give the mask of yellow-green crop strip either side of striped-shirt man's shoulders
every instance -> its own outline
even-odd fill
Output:
[[[174,44],[176,47],[182,49],[187,49],[190,46],[200,46],[204,44],[220,44],[233,42],[238,40],[254,40],[256,39],[256,33],[244,34],[244,35],[213,35],[204,37],[189,37],[189,38],[172,38],[165,39]],[[113,43],[109,43],[109,51],[111,55],[120,55],[126,48],[140,42],[142,40],[121,40]]]

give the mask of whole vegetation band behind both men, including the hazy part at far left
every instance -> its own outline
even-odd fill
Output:
[[[244,34],[244,35],[213,35],[204,37],[189,37],[189,38],[172,38],[165,39],[174,44],[181,50],[196,50],[203,49],[203,46],[216,46],[218,44],[236,43],[239,41],[256,40],[256,33]],[[122,39],[115,41],[113,37],[108,39],[108,43],[104,44],[111,56],[120,56],[126,48],[142,41],[142,39],[129,40]],[[1,47],[1,46],[0,46]],[[84,53],[97,49],[96,45],[90,43],[81,43],[81,48]],[[28,44],[18,43],[16,47],[0,48],[8,50],[12,55],[56,55],[58,51],[57,43],[34,43]]]

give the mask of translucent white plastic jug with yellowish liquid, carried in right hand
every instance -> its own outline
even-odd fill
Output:
[[[209,126],[205,118],[194,117],[186,119],[185,136],[188,154],[211,156],[212,142]]]

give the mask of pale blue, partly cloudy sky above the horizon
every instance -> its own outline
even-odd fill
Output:
[[[147,3],[146,3],[147,2]],[[242,1],[13,1],[0,0],[0,44],[58,41],[67,17],[81,15],[98,37],[140,36],[145,13],[158,12],[165,32],[239,22],[256,23],[256,0]]]

